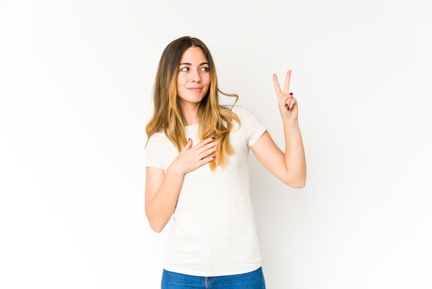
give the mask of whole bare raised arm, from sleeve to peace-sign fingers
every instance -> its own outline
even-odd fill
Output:
[[[306,157],[298,124],[297,100],[293,93],[288,93],[290,77],[291,71],[288,71],[282,91],[277,76],[273,75],[279,111],[284,124],[285,152],[277,147],[267,131],[252,146],[252,151],[259,162],[279,180],[290,187],[301,188],[306,183]]]

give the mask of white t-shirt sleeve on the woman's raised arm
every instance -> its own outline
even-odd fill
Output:
[[[239,107],[239,118],[244,130],[244,137],[248,147],[252,147],[262,134],[267,130],[264,124],[258,120],[252,111]]]

